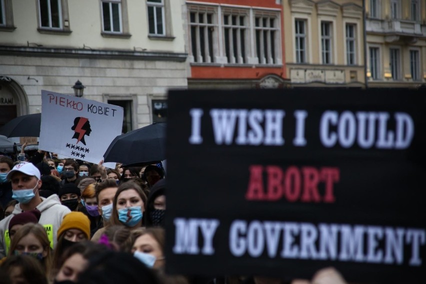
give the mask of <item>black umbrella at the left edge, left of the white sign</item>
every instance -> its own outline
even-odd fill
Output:
[[[39,137],[41,113],[21,115],[13,118],[0,128],[0,135],[6,137]]]

